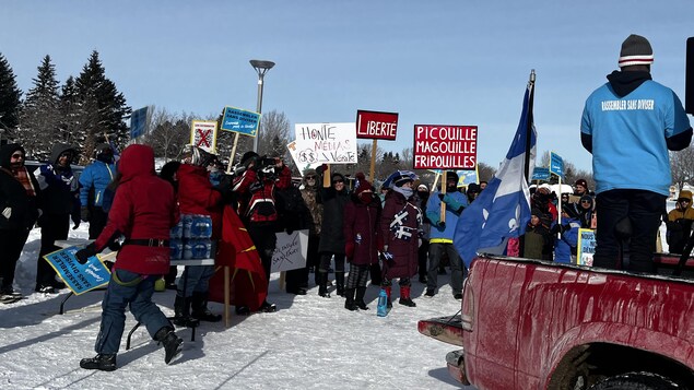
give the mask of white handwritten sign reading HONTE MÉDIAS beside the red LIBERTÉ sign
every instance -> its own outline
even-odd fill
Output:
[[[306,164],[356,164],[354,123],[296,123],[298,166]]]

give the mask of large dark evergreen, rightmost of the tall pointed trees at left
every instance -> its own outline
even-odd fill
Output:
[[[94,50],[74,82],[83,120],[79,142],[83,155],[90,156],[95,144],[108,134],[118,146],[129,140],[129,128],[125,119],[132,110],[116,84],[106,78],[98,52]]]

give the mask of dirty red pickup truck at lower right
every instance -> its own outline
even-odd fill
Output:
[[[694,389],[684,277],[483,255],[460,315],[419,331],[462,346],[448,370],[478,389]]]

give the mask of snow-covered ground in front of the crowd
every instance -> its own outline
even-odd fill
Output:
[[[71,231],[86,238],[86,224]],[[34,293],[40,234],[33,231],[17,263],[15,287],[26,298],[0,305],[0,389],[459,389],[448,376],[445,356],[457,347],[421,335],[420,319],[454,315],[460,308],[448,276],[439,276],[438,295],[424,297],[413,282],[417,304],[397,302],[388,317],[376,316],[377,287],[367,291],[368,311],[345,310],[344,299],[281,292],[278,275],[270,285],[278,312],[232,317],[232,326],[203,323],[196,341],[184,338],[181,358],[167,366],[163,350],[144,329],[136,331],[130,351],[126,336],[136,323],[128,314],[126,334],[113,373],[80,368],[93,356],[103,292],[73,296]],[[310,275],[313,286],[313,274]],[[395,288],[397,289],[397,288]],[[174,292],[155,293],[154,300],[173,315]],[[397,294],[396,294],[397,295]],[[213,311],[223,306],[210,304]]]

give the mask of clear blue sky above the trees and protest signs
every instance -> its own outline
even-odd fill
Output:
[[[677,1],[32,1],[3,0],[0,52],[24,92],[50,55],[60,82],[98,50],[133,108],[216,115],[256,108],[250,59],[272,60],[262,110],[292,123],[354,121],[357,109],[415,123],[477,125],[478,159],[496,166],[537,73],[538,150],[580,169],[585,98],[616,69],[632,33],[655,54],[654,80],[684,101],[694,2]]]

